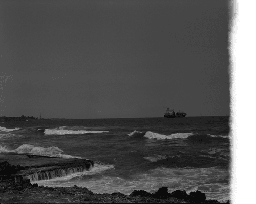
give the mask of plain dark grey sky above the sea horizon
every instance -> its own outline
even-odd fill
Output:
[[[228,6],[0,0],[0,115],[229,115]]]

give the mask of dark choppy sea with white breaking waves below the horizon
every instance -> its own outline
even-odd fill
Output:
[[[158,188],[200,190],[206,199],[230,200],[229,116],[67,119],[0,122],[0,154],[32,153],[84,158],[89,171],[43,186],[86,187],[94,193]]]

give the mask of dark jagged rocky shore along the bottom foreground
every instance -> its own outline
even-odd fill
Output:
[[[74,187],[43,187],[31,184],[29,179],[15,181],[12,176],[22,170],[20,165],[0,163],[0,203],[220,203],[206,200],[200,191],[187,194],[176,190],[168,193],[167,187],[161,187],[155,193],[134,190],[130,195],[122,193],[93,193],[87,188]],[[229,201],[227,202],[229,203]]]

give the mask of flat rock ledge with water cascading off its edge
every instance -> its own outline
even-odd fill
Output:
[[[58,158],[35,156],[29,154],[2,153],[0,154],[0,163],[7,161],[11,165],[20,165],[24,170],[12,174],[11,177],[20,182],[23,179],[30,181],[54,179],[77,172],[91,170],[94,162],[78,158]],[[0,180],[6,178],[6,175],[0,175]]]

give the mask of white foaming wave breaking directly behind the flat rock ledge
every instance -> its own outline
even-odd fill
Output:
[[[23,144],[19,146],[17,149],[9,149],[7,146],[0,145],[0,153],[10,153],[10,152],[15,152],[18,154],[29,153],[32,155],[41,155],[41,156],[48,156],[48,157],[81,158],[81,157],[62,154],[63,150],[55,146],[40,147],[40,146],[31,145],[31,144]]]

